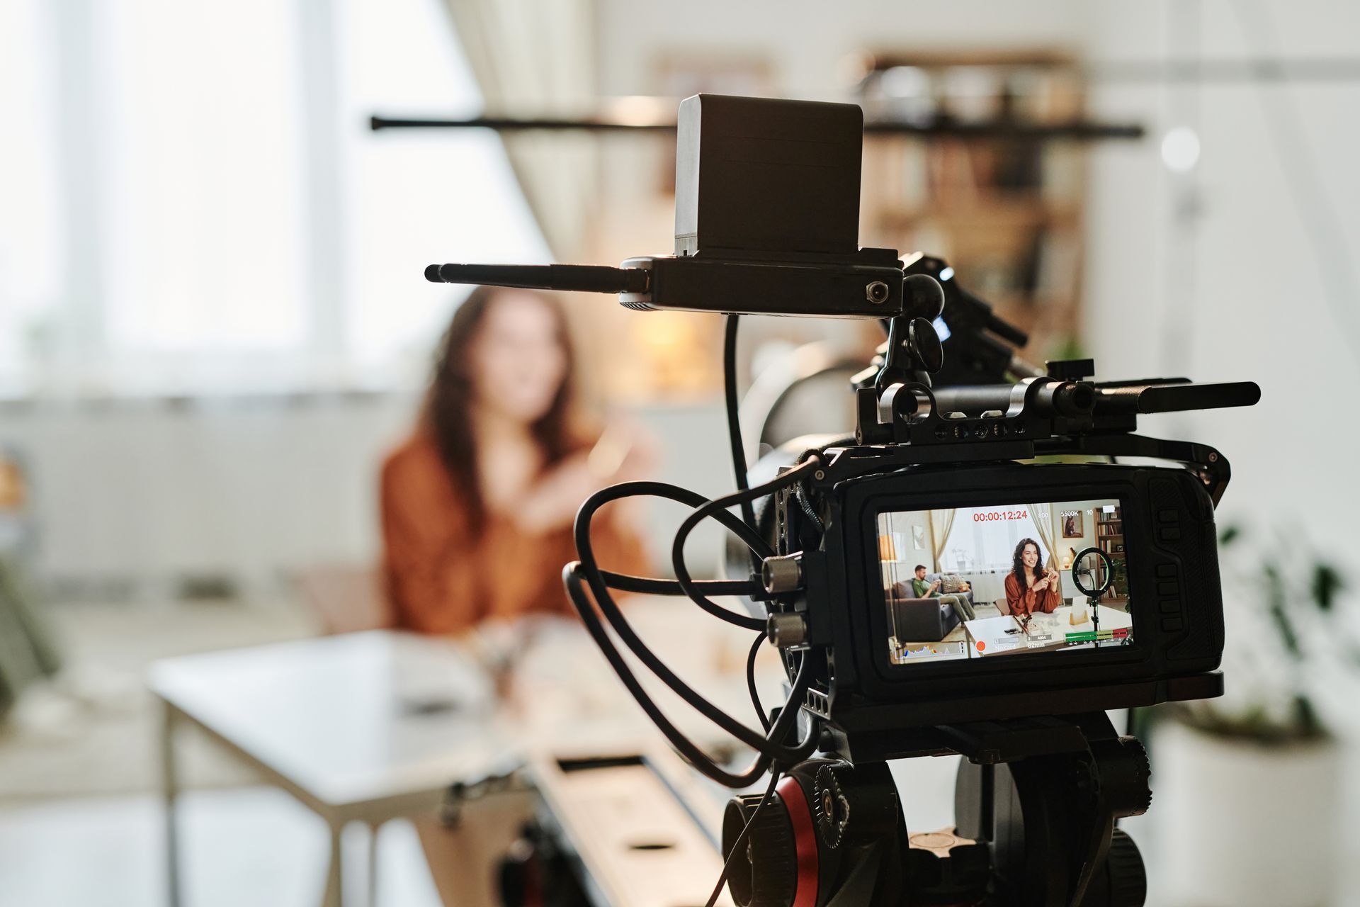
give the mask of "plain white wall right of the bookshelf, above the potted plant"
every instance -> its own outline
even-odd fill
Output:
[[[1193,8],[1195,4],[1183,4]],[[1205,56],[1295,58],[1360,56],[1360,7],[1239,4],[1269,15],[1270,44],[1247,41],[1225,1],[1202,4]],[[1160,58],[1186,44],[1182,19],[1161,4],[1102,4],[1092,53]],[[1148,18],[1156,11],[1155,18]],[[1088,208],[1088,343],[1100,377],[1155,371],[1197,381],[1251,379],[1251,409],[1159,416],[1148,434],[1186,435],[1220,447],[1234,479],[1220,522],[1270,524],[1303,533],[1360,574],[1353,541],[1357,483],[1348,475],[1360,423],[1348,415],[1360,378],[1360,146],[1357,82],[1284,87],[1121,86],[1093,97],[1093,113],[1132,116],[1160,136],[1198,118],[1202,156],[1190,178],[1161,165],[1157,141],[1098,146]],[[1292,128],[1280,155],[1262,101],[1285,105]],[[1278,107],[1272,107],[1278,110]],[[1327,245],[1304,226],[1299,179],[1330,197],[1338,222]],[[1193,230],[1174,227],[1175,205],[1198,205]],[[1345,261],[1349,258],[1349,261]],[[1329,303],[1325,268],[1349,268],[1350,294]],[[1340,310],[1340,311],[1338,311]]]

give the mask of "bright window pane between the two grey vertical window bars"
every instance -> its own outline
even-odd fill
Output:
[[[309,224],[290,4],[98,10],[112,352],[301,348]]]

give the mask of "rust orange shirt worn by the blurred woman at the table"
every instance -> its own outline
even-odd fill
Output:
[[[488,617],[575,613],[562,567],[577,560],[571,528],[528,532],[487,514],[473,529],[434,439],[416,435],[382,466],[384,583],[394,624],[428,634],[469,630]],[[641,538],[612,506],[590,538],[605,570],[646,574]]]

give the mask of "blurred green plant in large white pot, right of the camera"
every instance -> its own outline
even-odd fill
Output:
[[[1220,533],[1223,699],[1137,717],[1157,806],[1157,903],[1331,903],[1341,745],[1316,692],[1360,666],[1341,620],[1345,581],[1300,534]]]

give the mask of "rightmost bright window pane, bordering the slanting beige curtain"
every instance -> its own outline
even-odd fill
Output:
[[[374,133],[369,117],[481,109],[443,0],[344,5],[347,343],[364,367],[422,371],[462,287],[426,283],[443,261],[551,261],[500,140],[484,131]]]

